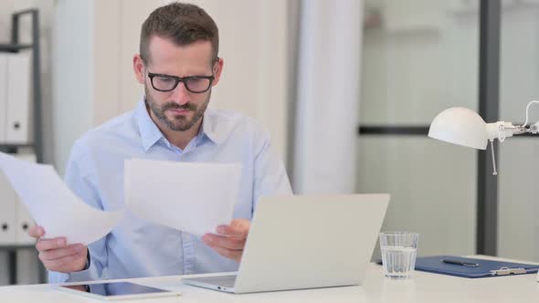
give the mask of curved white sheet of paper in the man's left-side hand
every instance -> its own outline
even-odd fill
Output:
[[[88,245],[111,232],[123,215],[123,211],[103,212],[84,204],[51,165],[0,152],[0,169],[37,225],[45,229],[46,238],[65,236],[68,243]]]

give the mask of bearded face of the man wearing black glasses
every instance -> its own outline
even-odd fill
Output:
[[[161,37],[153,37],[150,43],[151,58],[143,67],[142,74],[146,102],[150,115],[162,128],[171,131],[187,131],[199,125],[204,116],[211,96],[211,88],[203,93],[194,93],[185,88],[185,82],[179,82],[171,91],[159,91],[153,88],[148,74],[162,74],[179,78],[193,76],[215,76],[212,83],[217,84],[222,62],[214,64],[212,47],[209,41],[200,41],[185,47]],[[135,67],[136,69],[136,67]],[[159,89],[159,87],[156,87]]]

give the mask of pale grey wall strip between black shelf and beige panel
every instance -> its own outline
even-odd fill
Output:
[[[94,18],[91,0],[59,0],[55,6],[53,162],[60,173],[73,142],[92,126],[95,64],[90,58],[94,56]]]

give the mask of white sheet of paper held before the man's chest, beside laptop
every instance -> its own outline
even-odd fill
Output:
[[[238,163],[125,162],[125,201],[133,214],[193,235],[230,224],[238,201]]]

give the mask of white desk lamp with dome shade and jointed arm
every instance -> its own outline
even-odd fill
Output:
[[[528,110],[533,103],[539,103],[539,101],[528,103],[526,107],[526,120],[523,125],[513,125],[512,122],[505,121],[485,123],[475,111],[466,108],[443,110],[430,123],[428,137],[478,150],[486,150],[487,144],[490,142],[492,174],[497,175],[493,141],[494,139],[498,139],[502,142],[505,138],[526,132],[539,133],[539,121],[526,128],[528,124]]]

